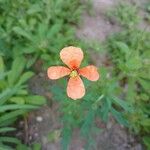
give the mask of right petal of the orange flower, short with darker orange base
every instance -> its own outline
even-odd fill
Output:
[[[79,74],[91,81],[97,81],[99,79],[97,68],[93,65],[79,69]]]

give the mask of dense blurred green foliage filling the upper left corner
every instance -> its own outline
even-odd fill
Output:
[[[28,67],[37,59],[46,67],[59,63],[60,49],[76,43],[71,25],[80,19],[79,6],[79,0],[1,0],[0,53],[6,58],[25,54]]]

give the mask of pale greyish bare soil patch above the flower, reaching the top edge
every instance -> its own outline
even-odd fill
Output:
[[[85,40],[104,41],[108,35],[120,31],[120,26],[111,23],[106,17],[107,11],[117,4],[118,0],[93,0],[92,15],[84,12],[83,22],[77,29],[77,37]]]

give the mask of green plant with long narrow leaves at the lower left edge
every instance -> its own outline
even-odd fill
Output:
[[[18,139],[7,135],[16,130],[11,127],[12,124],[18,117],[45,104],[46,100],[27,92],[26,82],[33,76],[33,72],[24,72],[26,66],[24,57],[16,57],[10,70],[6,69],[2,56],[0,61],[0,148],[4,149],[7,143],[21,144]],[[8,149],[11,148],[8,146]]]

